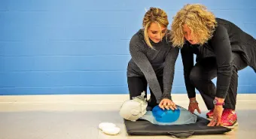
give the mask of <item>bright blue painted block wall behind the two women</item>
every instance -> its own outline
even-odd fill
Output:
[[[256,1],[0,0],[0,95],[128,93],[129,41],[145,8],[172,17],[187,2],[256,38]],[[181,58],[172,93],[185,93]],[[254,93],[256,74],[239,72],[239,93]]]

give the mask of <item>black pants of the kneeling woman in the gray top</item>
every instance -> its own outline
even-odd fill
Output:
[[[163,92],[163,77],[157,77],[160,88]],[[128,88],[130,92],[130,99],[141,95],[143,91],[147,92],[148,82],[145,77],[127,77]],[[154,93],[150,89],[151,98],[148,100],[148,106],[154,107],[157,105],[157,99],[154,96]],[[145,95],[147,97],[147,93]]]

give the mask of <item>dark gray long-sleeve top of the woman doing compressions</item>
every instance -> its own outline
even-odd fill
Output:
[[[154,49],[144,40],[143,30],[140,29],[130,40],[130,54],[132,59],[128,63],[127,77],[145,77],[148,85],[157,98],[157,103],[163,98],[171,99],[172,82],[175,73],[175,62],[179,48],[172,47],[169,38],[154,43]],[[157,77],[163,76],[163,92]],[[163,94],[163,95],[162,95]]]

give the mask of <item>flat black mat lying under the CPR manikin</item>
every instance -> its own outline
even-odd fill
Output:
[[[196,114],[197,115],[197,114]],[[154,125],[145,119],[136,122],[124,120],[126,132],[129,135],[169,135],[178,138],[187,138],[194,134],[224,134],[231,131],[223,126],[207,126],[210,122],[197,115],[197,122],[185,125]]]

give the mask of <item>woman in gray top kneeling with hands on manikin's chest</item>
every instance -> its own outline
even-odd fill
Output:
[[[158,104],[162,109],[174,110],[170,92],[179,49],[169,41],[168,24],[166,12],[160,8],[150,8],[145,13],[143,29],[130,40],[131,59],[126,74],[130,99],[147,92],[149,86],[148,106]]]

